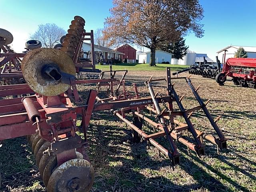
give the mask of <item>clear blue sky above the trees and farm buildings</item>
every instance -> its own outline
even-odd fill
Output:
[[[256,0],[200,0],[204,8],[204,37],[186,37],[189,49],[206,53],[215,60],[216,52],[229,45],[256,46]],[[112,0],[0,0],[0,28],[14,36],[16,52],[39,24],[55,23],[68,29],[75,15],[86,20],[86,30],[102,28],[110,15]]]

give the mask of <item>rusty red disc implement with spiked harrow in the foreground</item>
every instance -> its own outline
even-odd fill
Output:
[[[72,24],[81,26],[84,20],[75,17]],[[81,39],[84,38],[84,32],[79,31]],[[80,46],[80,40],[75,41],[76,36],[71,39],[76,45],[74,47]],[[216,124],[220,116],[215,120],[212,118],[206,108],[210,100],[202,101],[197,92],[199,87],[194,88],[189,77],[172,78],[170,68],[166,68],[165,78],[151,77],[145,82],[150,96],[141,97],[136,84],[133,84],[134,93],[126,91],[124,78],[127,70],[114,71],[111,65],[109,71],[100,73],[99,79],[76,80],[76,49],[71,51],[73,46],[68,46],[60,50],[31,50],[21,64],[27,84],[0,86],[0,141],[26,136],[48,192],[88,192],[92,188],[94,168],[87,155],[90,144],[87,132],[94,112],[113,112],[130,127],[133,142],[148,142],[159,150],[159,154],[169,158],[172,166],[180,163],[176,142],[184,144],[198,156],[205,154],[205,140],[215,144],[218,152],[227,147],[226,138]],[[123,74],[118,80],[116,74],[119,72]],[[105,74],[109,74],[109,78]],[[176,93],[173,79],[184,80],[188,84],[198,106],[184,108],[184,96],[179,97]],[[155,93],[155,82],[166,85],[166,95]],[[96,87],[89,90],[87,98],[82,98],[78,94],[78,84]],[[104,98],[99,96],[102,86],[108,92]],[[24,94],[30,96],[12,98]],[[84,104],[83,100],[86,100]],[[198,110],[202,110],[208,118],[214,136],[192,124],[193,113]],[[78,116],[82,117],[79,124]],[[150,131],[144,129],[144,123]],[[83,137],[77,132],[81,132]]]

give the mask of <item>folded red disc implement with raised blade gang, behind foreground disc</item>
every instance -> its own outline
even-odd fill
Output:
[[[100,70],[95,69],[96,54],[94,52],[93,30],[84,30],[85,21],[80,16],[75,16],[71,21],[68,33],[60,39],[61,44],[54,48],[60,49],[68,54],[76,66],[76,74],[80,79],[99,78]],[[0,85],[24,84],[25,80],[21,72],[22,58],[30,50],[40,48],[41,42],[29,40],[25,43],[26,51],[23,53],[14,52],[8,44],[13,40],[12,34],[0,29]],[[90,60],[83,58],[83,41],[90,41]]]

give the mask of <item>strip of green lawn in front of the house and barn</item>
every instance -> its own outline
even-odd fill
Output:
[[[148,64],[138,64],[138,63],[120,63],[113,64],[113,70],[165,70],[166,67],[170,67],[171,70],[182,70],[187,68],[186,65],[173,65],[173,64],[156,64],[156,67],[149,67]],[[96,69],[109,70],[109,65],[96,65]]]

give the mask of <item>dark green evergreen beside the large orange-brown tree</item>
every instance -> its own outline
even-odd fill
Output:
[[[179,38],[174,43],[162,44],[159,48],[163,51],[173,54],[176,59],[182,59],[187,54],[188,46],[185,45],[185,39]]]

